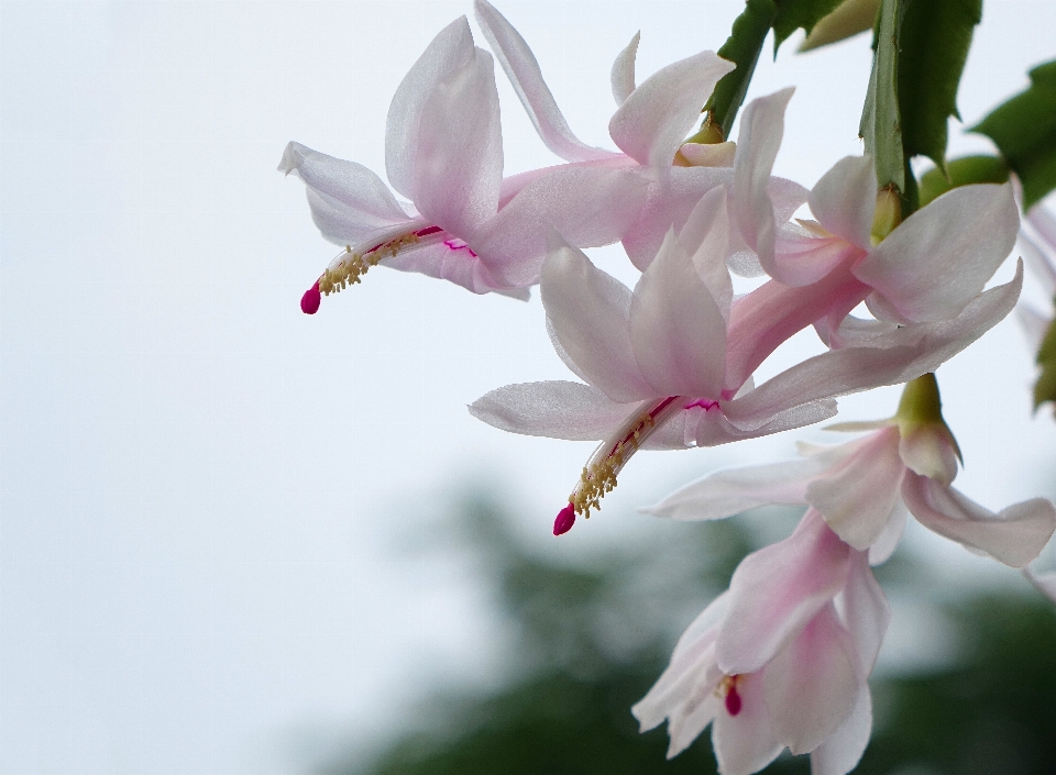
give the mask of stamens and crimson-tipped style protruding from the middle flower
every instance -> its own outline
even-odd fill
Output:
[[[657,428],[682,410],[684,400],[680,399],[680,396],[672,396],[661,401],[644,403],[613,438],[602,442],[583,467],[580,483],[569,496],[569,505],[561,510],[554,521],[556,535],[560,534],[558,533],[559,523],[562,527],[568,525],[561,531],[565,532],[571,530],[575,514],[590,519],[591,509],[601,509],[602,498],[616,487],[616,475],[627,465],[631,455],[641,449],[646,439]]]

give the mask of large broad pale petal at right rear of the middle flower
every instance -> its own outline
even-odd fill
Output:
[[[1012,186],[961,186],[910,215],[855,275],[908,320],[948,320],[1012,251],[1019,225]]]

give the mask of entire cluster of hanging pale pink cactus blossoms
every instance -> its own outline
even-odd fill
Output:
[[[1056,508],[1035,498],[993,513],[953,487],[960,451],[934,377],[1016,305],[1021,263],[985,290],[1020,231],[1012,185],[958,186],[903,220],[898,192],[862,155],[807,190],[771,174],[791,89],[750,102],[736,142],[686,141],[734,65],[704,52],[638,84],[637,35],[612,70],[618,151],[595,148],[569,129],[519,33],[485,0],[475,15],[491,53],[458,19],[393,98],[392,189],[359,164],[287,146],[279,169],[301,178],[316,224],[341,246],[301,309],[315,314],[374,266],[475,294],[527,298],[539,285],[554,350],[579,379],[501,387],[470,412],[513,433],[598,442],[554,534],[596,511],[639,450],[787,431],[832,418],[840,396],[905,384],[891,419],[834,427],[858,434],[844,444],[715,473],[648,509],[711,520],[806,507],[793,534],[747,556],[683,634],[634,707],[642,729],[667,720],[675,755],[711,726],[727,775],[785,748],[809,753],[817,775],[843,775],[869,740],[868,678],[889,620],[871,567],[910,514],[1026,568],[1056,599],[1056,576],[1027,567]],[[561,164],[504,177],[493,57]],[[793,219],[804,206],[812,217]],[[1028,257],[1052,295],[1056,225],[1045,213],[1033,223]],[[632,289],[583,252],[617,242],[641,272]],[[732,272],[767,279],[736,296]],[[851,314],[862,302],[870,318]],[[1049,314],[1023,314],[1040,346],[1054,335]],[[810,326],[826,351],[755,385],[760,364]]]

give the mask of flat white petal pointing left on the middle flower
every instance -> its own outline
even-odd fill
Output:
[[[604,439],[634,409],[590,385],[565,381],[506,385],[469,406],[470,414],[501,430],[568,441]]]

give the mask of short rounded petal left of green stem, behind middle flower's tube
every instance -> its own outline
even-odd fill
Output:
[[[825,229],[866,251],[872,247],[877,174],[870,156],[845,156],[811,191],[811,212]]]

